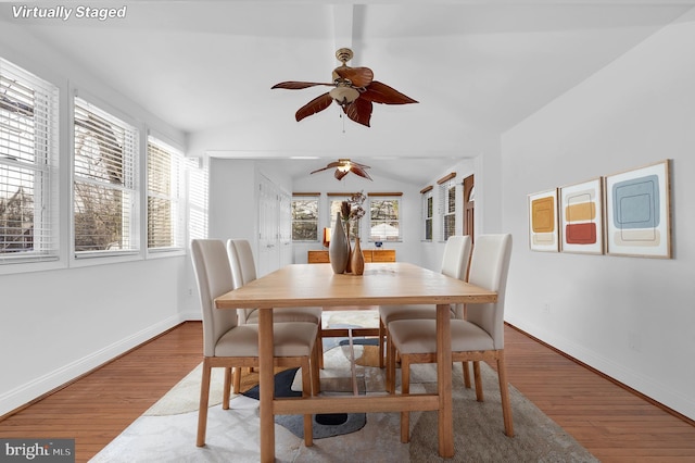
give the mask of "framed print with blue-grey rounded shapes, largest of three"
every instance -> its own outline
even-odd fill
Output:
[[[606,251],[671,258],[669,161],[605,178]]]

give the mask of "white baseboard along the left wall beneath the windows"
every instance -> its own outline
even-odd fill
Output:
[[[176,314],[0,395],[0,421],[188,320]]]

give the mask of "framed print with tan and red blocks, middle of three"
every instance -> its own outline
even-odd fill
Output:
[[[604,253],[601,177],[559,189],[560,251]]]

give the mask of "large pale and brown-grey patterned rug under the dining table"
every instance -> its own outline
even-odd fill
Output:
[[[372,350],[374,346],[364,347]],[[342,360],[345,346],[338,346],[325,355],[321,372],[325,390],[351,389],[352,381],[344,376]],[[355,346],[357,358],[365,358]],[[367,356],[371,356],[367,352]],[[219,370],[219,368],[217,368]],[[581,447],[516,388],[510,387],[515,437],[504,434],[502,408],[495,372],[481,364],[485,402],[477,402],[475,391],[462,385],[460,364],[454,367],[454,437],[455,462],[595,462]],[[358,366],[359,393],[382,395],[383,371],[374,366]],[[200,372],[191,372],[191,378]],[[195,383],[193,380],[193,383]],[[222,384],[222,374],[213,384]],[[198,383],[198,386],[200,383]],[[197,408],[200,390],[194,384],[175,387],[168,399],[193,403]],[[414,365],[410,390],[431,392],[435,389],[434,365]],[[177,390],[179,389],[179,390]],[[219,397],[222,397],[220,387]],[[258,402],[236,396],[230,410],[213,405],[207,422],[204,448],[195,447],[197,410],[161,414],[173,410],[165,404],[154,405],[114,439],[93,462],[256,462],[260,460]],[[168,413],[168,412],[167,412]],[[437,414],[410,414],[410,442],[401,443],[400,414],[367,413],[365,426],[351,434],[316,440],[311,448],[283,426],[275,427],[276,456],[280,462],[435,462],[438,454]]]

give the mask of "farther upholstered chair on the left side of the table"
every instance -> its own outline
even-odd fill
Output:
[[[228,239],[227,254],[231,265],[231,274],[237,285],[248,285],[256,279],[256,264],[253,259],[251,243],[247,239]],[[316,340],[318,342],[318,363],[324,366],[323,330],[321,330],[321,308],[285,308],[273,312],[275,322],[311,322],[318,327]],[[258,311],[252,309],[239,309],[239,323],[258,323]],[[315,387],[318,387],[316,380]],[[235,392],[238,392],[237,380],[235,380]]]

